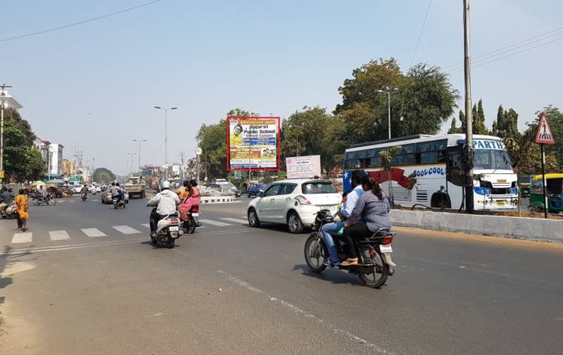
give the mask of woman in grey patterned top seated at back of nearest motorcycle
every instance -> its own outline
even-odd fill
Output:
[[[352,211],[349,223],[344,227],[344,242],[349,255],[348,259],[341,263],[342,266],[358,264],[354,238],[367,238],[380,228],[391,228],[389,200],[373,178],[369,178],[366,187],[370,187],[370,190],[361,195]],[[358,219],[361,221],[354,223]]]

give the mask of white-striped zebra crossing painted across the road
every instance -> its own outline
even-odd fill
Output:
[[[237,219],[232,217],[224,217],[219,219],[201,219],[200,222],[202,226],[199,228],[210,228],[210,227],[228,227],[228,226],[240,226],[244,224],[248,226],[248,221],[245,219]],[[25,243],[33,243],[34,241],[34,234],[37,238],[41,240],[45,240],[45,234],[48,236],[48,240],[52,242],[57,241],[64,241],[64,240],[71,240],[76,238],[83,238],[84,236],[88,238],[104,238],[117,235],[139,235],[146,233],[146,229],[150,228],[149,223],[141,223],[139,226],[143,228],[139,228],[137,226],[110,226],[105,228],[105,231],[100,230],[99,228],[79,228],[79,233],[69,234],[69,231],[66,230],[57,230],[57,231],[45,231],[42,232],[33,232],[33,231],[26,231],[20,233],[14,233],[11,239],[12,244],[25,244]],[[137,227],[137,228],[135,228]]]

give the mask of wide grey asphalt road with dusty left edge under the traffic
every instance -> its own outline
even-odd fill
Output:
[[[307,234],[249,228],[246,199],[202,206],[205,228],[173,250],[149,243],[143,200],[95,199],[32,206],[32,234],[16,239],[0,221],[2,354],[563,349],[559,245],[397,228],[397,273],[368,289],[308,272]]]

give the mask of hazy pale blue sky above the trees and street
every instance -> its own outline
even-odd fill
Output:
[[[37,136],[64,144],[65,158],[77,146],[86,163],[128,173],[127,153],[139,149],[132,139],[141,138],[141,163],[164,163],[158,105],[178,107],[168,113],[168,161],[178,162],[181,151],[195,156],[200,125],[231,108],[282,118],[306,105],[332,111],[344,79],[380,57],[395,57],[402,71],[441,66],[463,95],[463,71],[451,68],[463,62],[461,0],[431,1],[414,61],[429,0],[161,0],[1,41],[146,2],[1,1],[0,82],[13,86]],[[561,13],[557,0],[472,0],[472,57],[562,28]],[[499,104],[520,114],[520,127],[546,105],[563,107],[562,59],[563,40],[475,62],[472,98],[483,99],[488,126]]]

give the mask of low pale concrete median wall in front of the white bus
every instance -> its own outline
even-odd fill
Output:
[[[393,209],[395,226],[563,243],[563,221]]]

